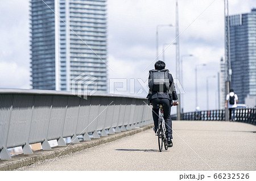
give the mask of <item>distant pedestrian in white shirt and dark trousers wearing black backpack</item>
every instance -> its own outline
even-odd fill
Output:
[[[234,94],[234,90],[230,89],[229,94],[226,95],[225,108],[229,108],[229,121],[235,121],[235,111],[237,108],[238,96]],[[233,113],[233,117],[232,117]]]

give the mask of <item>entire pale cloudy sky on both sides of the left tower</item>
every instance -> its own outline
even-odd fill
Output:
[[[156,60],[163,60],[163,53],[156,58],[156,26],[176,26],[175,2],[108,0],[108,75],[114,82],[127,80],[127,91],[114,89],[115,94],[146,97],[143,82],[148,70],[154,69]],[[28,0],[0,0],[0,88],[31,89],[29,5]],[[254,0],[232,0],[229,14],[247,13],[253,7]],[[161,53],[164,44],[174,43],[175,27],[159,27],[158,32]],[[209,109],[217,109],[217,73],[224,57],[224,0],[179,0],[179,32],[184,111],[195,111],[195,67],[199,64],[207,64],[197,67],[200,110],[207,110],[207,99]],[[166,68],[177,78],[174,44],[164,51],[164,57]]]

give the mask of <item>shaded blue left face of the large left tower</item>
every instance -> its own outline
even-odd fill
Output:
[[[54,1],[47,1],[52,10]],[[43,1],[31,1],[31,78],[33,89],[55,90],[55,15]]]

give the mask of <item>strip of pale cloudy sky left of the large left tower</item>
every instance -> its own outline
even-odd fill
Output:
[[[28,1],[0,1],[0,87],[30,88]]]

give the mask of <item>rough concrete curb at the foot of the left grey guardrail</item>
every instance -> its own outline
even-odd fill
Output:
[[[12,159],[0,160],[0,170],[7,171],[7,170],[18,169],[19,167],[28,166],[28,165],[31,165],[32,163],[43,161],[45,159],[59,157],[61,155],[73,153],[79,150],[92,148],[93,146],[118,140],[126,136],[130,136],[142,131],[146,131],[147,129],[150,129],[152,127],[153,127],[153,124],[150,124],[142,128],[136,128],[130,131],[109,134],[109,136],[107,137],[101,137],[99,139],[93,139],[91,141],[81,141],[79,144],[70,144],[70,145],[68,144],[69,146],[56,146],[56,147],[53,147],[51,150],[34,151],[34,154],[14,155]]]

